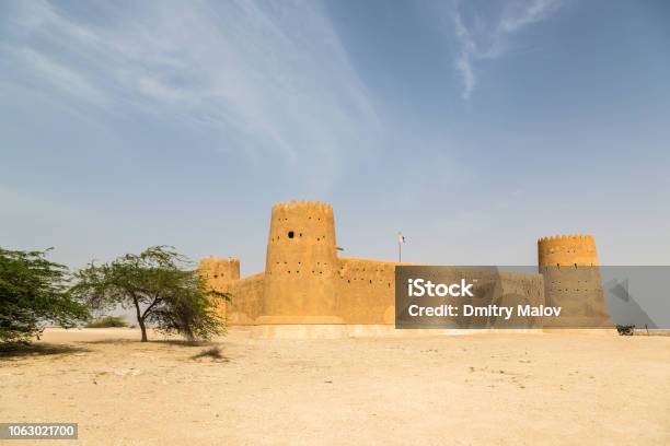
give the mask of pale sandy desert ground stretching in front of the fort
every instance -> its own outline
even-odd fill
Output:
[[[224,360],[137,339],[51,329],[0,356],[0,422],[79,423],[79,441],[39,445],[670,444],[670,337],[232,330]]]

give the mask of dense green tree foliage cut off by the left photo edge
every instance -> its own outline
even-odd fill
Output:
[[[0,248],[0,341],[30,342],[46,322],[70,328],[89,317],[68,293],[67,267],[46,253]]]

